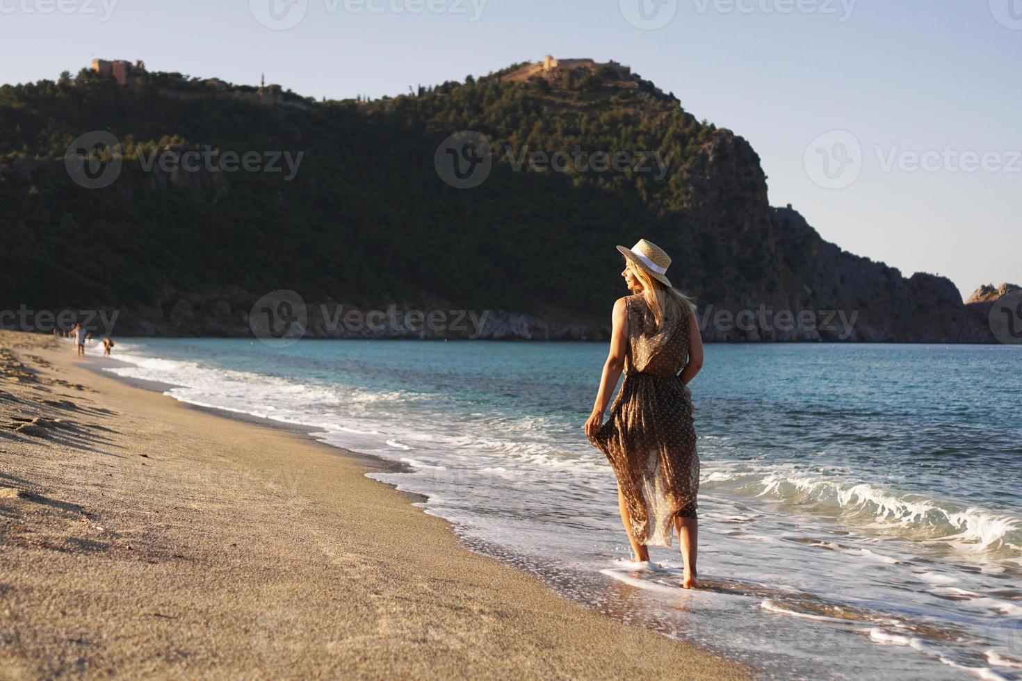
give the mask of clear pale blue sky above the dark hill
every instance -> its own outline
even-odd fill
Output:
[[[317,98],[377,97],[546,53],[614,59],[748,139],[771,202],[793,204],[845,250],[907,276],[946,276],[966,296],[1022,284],[1022,158],[1011,153],[1022,151],[1018,0],[664,0],[655,18],[677,7],[652,31],[625,20],[619,0],[294,1],[308,2],[303,20],[270,30],[254,18],[270,0],[0,0],[0,82],[55,79],[99,56],[234,83],[266,71]],[[416,2],[439,11],[408,11]],[[826,189],[804,156],[834,130],[862,145],[862,171]],[[877,146],[899,159],[985,153],[988,169],[938,160],[932,173],[885,171]]]

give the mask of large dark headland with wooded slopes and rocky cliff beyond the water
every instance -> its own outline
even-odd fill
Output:
[[[243,324],[256,298],[293,289],[310,302],[602,325],[624,293],[613,246],[647,238],[704,309],[855,309],[860,338],[982,337],[971,322],[961,332],[965,311],[946,280],[905,280],[771,209],[755,151],[673,95],[614,64],[536,69],[371,102],[315,102],[279,86],[264,97],[178,74],[119,86],[83,70],[2,86],[0,309],[118,307],[129,324],[201,333],[179,319],[226,300]],[[103,189],[77,185],[64,167],[68,146],[91,131],[114,135],[123,154]],[[485,136],[494,153],[472,189],[449,186],[434,166],[438,145],[461,131]],[[156,153],[210,150],[301,156],[290,180],[146,169]],[[535,169],[533,152],[569,160],[564,172]],[[593,169],[621,152],[630,163]]]

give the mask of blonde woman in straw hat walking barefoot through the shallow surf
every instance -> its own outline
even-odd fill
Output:
[[[687,387],[703,360],[695,305],[671,286],[670,257],[658,246],[642,239],[617,250],[633,295],[614,303],[610,353],[584,428],[617,477],[617,505],[635,560],[649,561],[648,544],[669,547],[677,531],[683,586],[695,588],[699,456]],[[622,371],[624,382],[604,424]]]

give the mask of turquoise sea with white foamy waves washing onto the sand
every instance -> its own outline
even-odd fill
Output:
[[[115,374],[406,465],[476,550],[778,678],[1022,678],[1022,348],[708,345],[699,574],[636,570],[602,343],[122,339]],[[409,560],[414,560],[410,556]]]

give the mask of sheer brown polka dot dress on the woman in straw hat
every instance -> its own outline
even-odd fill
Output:
[[[692,393],[677,374],[688,361],[691,317],[663,329],[641,294],[624,299],[624,382],[590,442],[610,461],[640,544],[670,546],[673,518],[696,517],[699,456]]]

